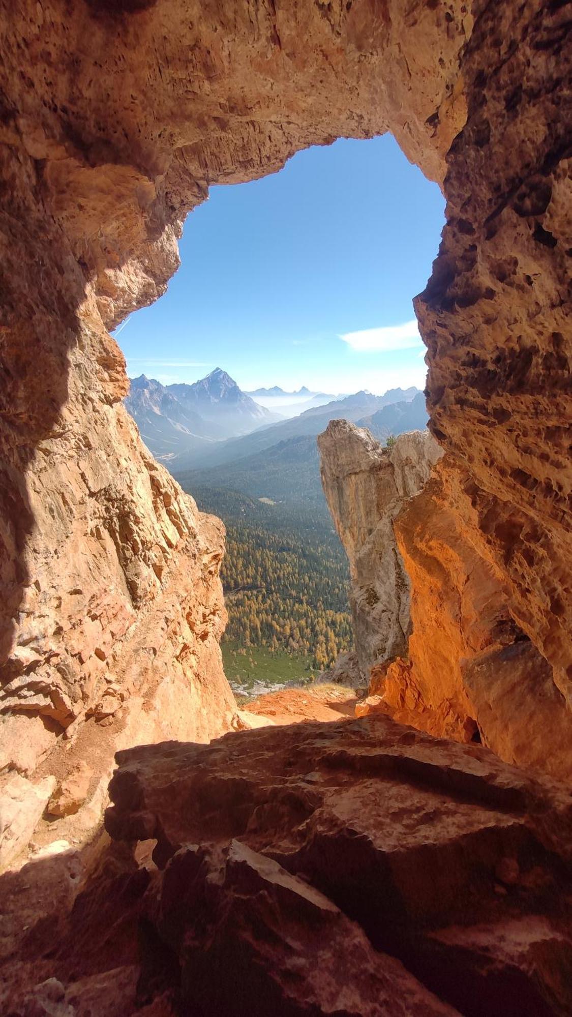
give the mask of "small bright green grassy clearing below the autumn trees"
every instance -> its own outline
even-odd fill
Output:
[[[268,685],[269,692],[273,685],[290,682],[307,684],[318,673],[317,668],[311,666],[311,658],[304,655],[292,655],[281,650],[273,652],[265,646],[251,647],[244,653],[231,642],[223,643],[221,649],[230,684],[248,692],[261,684]],[[260,689],[255,691],[260,695]]]

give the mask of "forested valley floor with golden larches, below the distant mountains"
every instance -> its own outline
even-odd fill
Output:
[[[198,507],[227,528],[221,571],[229,615],[226,662],[231,648],[254,667],[256,650],[266,648],[277,662],[294,658],[309,676],[351,648],[347,559],[321,490],[310,494],[306,487],[304,498],[305,485],[293,484],[279,502],[178,479]],[[282,671],[291,674],[279,668],[278,677]]]

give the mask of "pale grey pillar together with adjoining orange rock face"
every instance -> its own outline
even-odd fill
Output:
[[[434,735],[482,741],[509,763],[572,775],[572,713],[511,614],[467,471],[428,432],[383,448],[337,420],[319,445],[369,686],[360,714],[389,711]]]

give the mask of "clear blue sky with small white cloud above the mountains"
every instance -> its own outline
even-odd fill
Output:
[[[340,139],[279,173],[212,187],[167,293],[116,332],[131,377],[242,388],[422,387],[411,299],[437,255],[445,203],[393,137]]]

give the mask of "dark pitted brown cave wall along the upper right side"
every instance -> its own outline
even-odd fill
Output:
[[[430,427],[470,478],[462,516],[570,707],[568,8],[479,5],[462,61],[467,123],[447,157],[447,226],[415,309]]]

